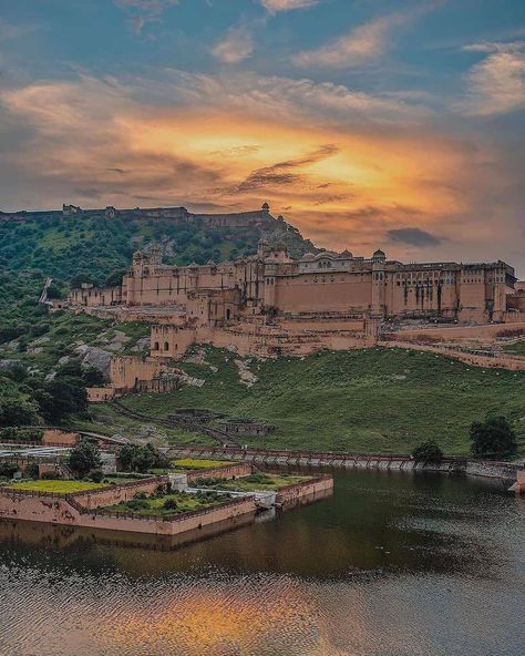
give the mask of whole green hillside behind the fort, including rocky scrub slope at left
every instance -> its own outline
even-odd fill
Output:
[[[48,277],[53,278],[49,289],[53,299],[65,297],[81,281],[115,284],[130,266],[133,252],[150,244],[161,245],[165,263],[178,265],[254,254],[261,237],[270,243],[284,240],[295,254],[315,248],[297,232],[285,230],[284,224],[269,225],[271,229],[267,224],[260,230],[210,228],[199,222],[177,225],[168,219],[106,219],[90,214],[63,217],[59,212],[28,213],[22,222],[0,222],[0,426],[2,416],[7,426],[6,417],[19,402],[31,408],[25,421],[49,421],[53,398],[58,401],[64,389],[81,406],[76,388],[89,381],[96,385],[92,365],[107,376],[112,352],[142,355],[147,350],[150,328],[145,324],[47,314],[38,301]],[[56,375],[60,381],[53,382]],[[2,388],[9,394],[2,396]],[[44,401],[48,411],[43,412]],[[65,407],[60,416],[68,418]]]

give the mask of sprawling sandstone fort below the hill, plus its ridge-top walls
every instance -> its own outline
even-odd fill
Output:
[[[65,207],[64,212],[81,211]],[[196,216],[184,208],[145,212],[173,221]],[[267,204],[259,212],[200,218],[215,225],[239,217],[277,221]],[[374,346],[382,334],[394,341],[412,341],[418,332],[405,329],[414,322],[419,332],[432,326],[437,334],[434,341],[442,339],[440,331],[446,336],[445,329],[462,326],[467,337],[473,328],[484,327],[490,335],[501,324],[519,329],[525,325],[525,299],[515,283],[514,269],[502,260],[404,264],[389,259],[381,249],[370,257],[349,250],[292,257],[286,245],[270,247],[261,239],[251,256],[206,265],[165,265],[161,248],[151,246],[134,254],[122,284],[103,288],[84,284],[71,291],[68,303],[101,317],[150,322],[150,357],[135,363],[133,358],[119,360],[112,380],[126,390],[140,381],[155,381],[150,391],[155,391],[153,387],[162,391],[169,383],[165,377],[161,380],[159,363],[179,359],[195,344],[240,355],[302,356],[322,348]],[[430,335],[420,335],[418,341]],[[148,391],[147,385],[141,389]],[[105,394],[103,389],[93,390],[92,398],[104,400]]]

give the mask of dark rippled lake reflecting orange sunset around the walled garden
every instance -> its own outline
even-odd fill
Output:
[[[2,656],[522,656],[525,499],[334,473],[334,494],[182,549],[0,522]]]

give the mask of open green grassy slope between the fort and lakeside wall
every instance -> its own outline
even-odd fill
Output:
[[[469,367],[402,349],[322,352],[303,359],[253,361],[259,381],[239,382],[231,353],[207,349],[209,365],[183,363],[206,379],[202,388],[133,394],[124,402],[164,417],[176,408],[207,408],[274,423],[271,448],[406,452],[435,439],[449,454],[469,452],[469,426],[493,410],[508,417],[525,451],[525,372]]]

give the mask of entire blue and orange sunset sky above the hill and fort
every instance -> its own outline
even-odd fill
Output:
[[[523,0],[0,0],[0,209],[237,212],[525,276]]]

